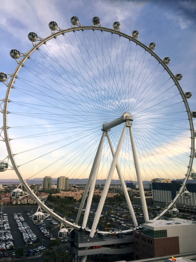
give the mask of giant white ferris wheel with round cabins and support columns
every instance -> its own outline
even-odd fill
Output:
[[[169,57],[155,54],[154,42],[140,42],[137,30],[126,35],[118,21],[112,29],[103,27],[99,17],[92,21],[91,26],[83,26],[72,17],[69,29],[51,21],[51,34],[45,38],[30,32],[33,47],[27,53],[10,51],[17,63],[14,73],[0,73],[7,88],[0,103],[0,140],[8,150],[0,171],[14,170],[20,179],[13,199],[30,194],[38,203],[41,210],[34,214],[34,222],[51,215],[62,223],[60,238],[67,237],[65,226],[80,228],[87,195],[82,227],[94,236],[112,179],[120,181],[135,227],[125,180],[137,181],[148,221],[143,181],[184,178],[176,197],[156,220],[168,211],[178,214],[178,197],[189,198],[187,180],[196,179],[192,169],[196,111],[188,106],[191,92],[184,92],[179,84],[182,74],[170,71]],[[35,176],[62,174],[88,177],[74,223],[55,214],[27,184]],[[97,179],[105,186],[89,229]]]

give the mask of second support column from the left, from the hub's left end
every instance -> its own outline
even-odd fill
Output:
[[[82,223],[82,227],[83,228],[87,226],[87,221],[88,221],[89,212],[90,212],[90,206],[91,206],[91,203],[92,203],[93,193],[94,193],[95,184],[96,184],[96,180],[97,180],[97,174],[98,174],[98,171],[99,171],[99,165],[100,165],[100,160],[101,160],[101,154],[102,154],[102,149],[103,149],[103,143],[104,143],[105,135],[106,135],[106,132],[103,131],[103,134],[102,134],[102,137],[101,137],[100,149],[99,149],[99,153],[97,155],[95,171],[94,171],[94,174],[93,174],[93,179],[91,181],[89,197],[88,197],[88,201],[87,201],[87,205],[86,205],[86,209],[85,209],[85,213],[84,213],[84,219],[83,219],[83,223]]]

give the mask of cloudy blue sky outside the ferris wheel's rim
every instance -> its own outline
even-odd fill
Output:
[[[169,56],[171,71],[174,74],[183,75],[180,85],[183,91],[192,92],[193,96],[188,102],[191,110],[196,110],[196,3],[194,1],[35,0],[17,1],[16,3],[16,1],[8,0],[1,1],[1,4],[3,8],[0,10],[2,35],[0,71],[7,74],[13,73],[16,62],[10,57],[9,51],[16,48],[22,53],[27,52],[32,47],[27,37],[29,32],[36,32],[39,37],[44,38],[51,33],[48,27],[50,21],[56,21],[60,28],[66,29],[71,27],[70,18],[73,15],[79,18],[82,25],[92,25],[92,18],[98,16],[104,27],[112,28],[113,22],[119,21],[121,30],[125,34],[131,35],[133,30],[138,30],[139,40],[142,43],[148,45],[149,42],[155,42],[155,53],[161,58]],[[3,99],[5,86],[0,84],[0,88],[1,99]],[[22,100],[22,96],[20,99]],[[18,144],[15,146],[18,147]],[[1,159],[5,158],[6,154],[4,145],[2,145]],[[39,168],[36,167],[34,173],[36,170]],[[27,171],[24,170],[24,172]],[[59,175],[62,173],[57,173],[55,177]],[[13,172],[10,172],[9,176],[15,177]],[[87,174],[83,176],[88,177]]]

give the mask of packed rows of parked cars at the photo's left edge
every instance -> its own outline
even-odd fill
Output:
[[[1,251],[11,250],[14,248],[14,244],[13,244],[14,239],[11,235],[7,214],[1,215],[0,223],[1,223],[0,224],[0,250]],[[5,254],[5,256],[7,255]]]

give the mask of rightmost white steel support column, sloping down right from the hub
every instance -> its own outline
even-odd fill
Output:
[[[146,222],[146,221],[149,221],[149,216],[148,216],[146,199],[145,199],[145,194],[144,194],[144,189],[143,189],[142,177],[141,177],[141,173],[140,173],[139,161],[138,161],[138,158],[137,158],[137,152],[136,152],[135,142],[134,142],[134,137],[133,137],[133,132],[132,132],[132,124],[129,123],[128,127],[129,127],[130,139],[131,139],[133,159],[134,159],[134,164],[135,164],[135,171],[136,171],[136,175],[137,175],[137,182],[138,182],[138,186],[139,186],[139,190],[140,190],[140,198],[141,198],[141,202],[142,202],[143,214],[144,214],[144,219],[145,219],[145,222]]]

